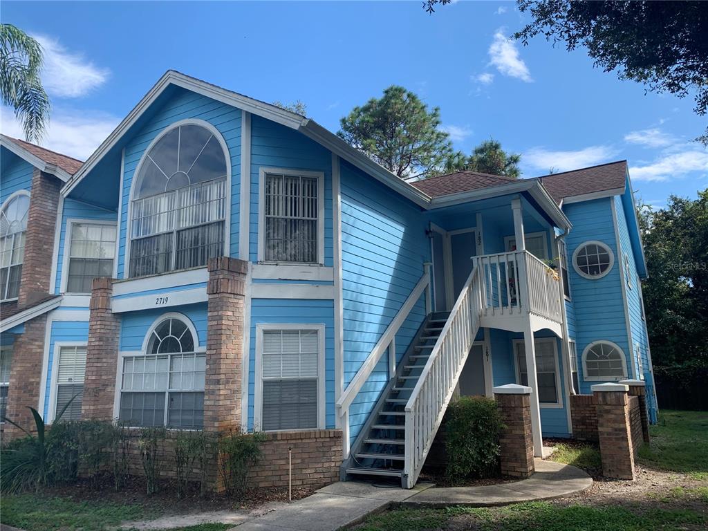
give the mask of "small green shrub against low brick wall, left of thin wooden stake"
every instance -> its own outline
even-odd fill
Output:
[[[249,469],[261,459],[261,442],[265,438],[265,434],[258,432],[233,432],[219,438],[219,478],[230,496],[240,495],[246,489]]]

